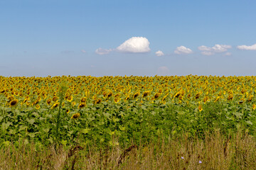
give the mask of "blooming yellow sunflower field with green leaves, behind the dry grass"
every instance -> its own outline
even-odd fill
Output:
[[[0,77],[0,145],[256,136],[256,77]]]

